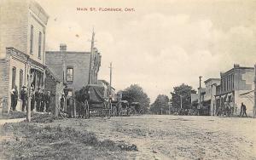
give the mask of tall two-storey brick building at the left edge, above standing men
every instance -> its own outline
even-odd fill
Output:
[[[14,12],[15,10],[15,12]],[[10,90],[44,88],[44,44],[48,14],[32,0],[0,2],[0,98],[10,109]],[[28,78],[32,84],[28,84]],[[18,100],[17,109],[20,109]]]

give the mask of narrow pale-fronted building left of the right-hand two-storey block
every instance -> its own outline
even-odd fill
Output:
[[[206,94],[204,97],[204,106],[209,108],[209,115],[215,115],[216,113],[216,87],[220,84],[219,78],[209,78],[205,81],[206,85]]]

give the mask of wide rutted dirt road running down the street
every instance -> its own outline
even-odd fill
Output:
[[[58,120],[99,139],[137,145],[136,159],[256,159],[256,119],[141,116]],[[128,157],[129,158],[129,157]]]

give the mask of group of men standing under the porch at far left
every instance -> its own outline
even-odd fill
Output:
[[[16,110],[17,101],[18,101],[18,90],[17,86],[11,90],[11,107],[13,111]],[[20,90],[20,100],[22,101],[22,111],[26,110],[28,94],[26,91],[26,86],[22,86]],[[32,87],[31,90],[31,111],[34,111],[36,106],[36,111],[38,112],[49,112],[49,104],[50,104],[50,92],[45,92],[44,89],[38,88],[37,91]]]

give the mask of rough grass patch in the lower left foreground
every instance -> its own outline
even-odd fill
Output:
[[[126,158],[125,151],[112,140],[97,140],[96,134],[69,127],[5,123],[0,134],[0,155],[7,159]]]

